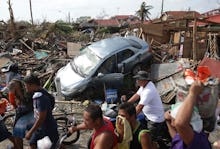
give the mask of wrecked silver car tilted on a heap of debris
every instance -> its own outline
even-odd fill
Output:
[[[107,38],[81,50],[58,70],[55,83],[57,85],[60,81],[61,93],[65,97],[91,97],[91,93],[102,92],[106,86],[120,88],[125,74],[135,74],[151,59],[149,45],[140,38]]]

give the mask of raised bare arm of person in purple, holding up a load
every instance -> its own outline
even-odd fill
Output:
[[[186,145],[189,145],[194,138],[194,132],[190,126],[190,120],[196,98],[202,92],[202,89],[203,86],[201,82],[196,81],[191,85],[189,94],[179,108],[175,118],[177,132],[180,134]]]

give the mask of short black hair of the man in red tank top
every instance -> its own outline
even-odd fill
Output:
[[[98,118],[102,119],[102,109],[99,105],[90,104],[85,109],[86,112],[90,114],[92,120],[96,120]]]

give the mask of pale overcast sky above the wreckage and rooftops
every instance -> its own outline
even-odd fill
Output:
[[[9,19],[8,0],[0,0],[0,20]],[[47,20],[66,21],[68,14],[75,21],[80,16],[97,18],[106,15],[134,15],[143,0],[32,0],[33,18],[35,22]],[[150,18],[160,15],[162,0],[145,0],[153,6]],[[16,21],[30,21],[29,0],[11,0]],[[200,13],[220,8],[220,0],[164,0],[164,11],[195,10]]]

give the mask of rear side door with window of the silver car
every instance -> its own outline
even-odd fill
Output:
[[[131,72],[132,68],[137,64],[135,53],[131,49],[125,49],[117,53],[118,70],[123,73]]]

